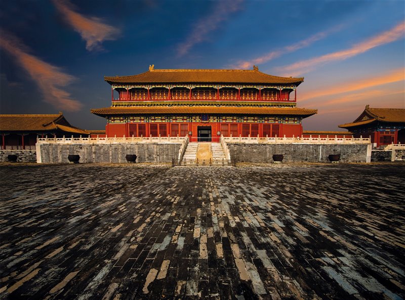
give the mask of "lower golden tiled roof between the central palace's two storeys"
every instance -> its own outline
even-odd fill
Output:
[[[161,114],[232,114],[232,115],[283,115],[309,117],[317,110],[302,108],[267,107],[108,107],[92,109],[98,116],[108,115],[161,115]]]

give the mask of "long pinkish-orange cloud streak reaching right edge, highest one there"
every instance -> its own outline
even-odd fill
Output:
[[[333,61],[342,61],[361,53],[365,53],[377,46],[393,42],[405,35],[405,22],[401,22],[392,29],[373,36],[365,41],[353,45],[351,48],[322,55],[308,60],[303,60],[289,66],[276,68],[276,71],[283,72],[289,76],[302,75],[308,71],[312,71],[318,65],[326,64]]]

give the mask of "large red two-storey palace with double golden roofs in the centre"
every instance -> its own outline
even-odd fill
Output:
[[[106,135],[186,136],[219,141],[223,136],[302,136],[301,121],[317,113],[297,108],[304,78],[253,70],[158,70],[104,77],[111,107],[92,109],[107,119]],[[118,97],[114,98],[114,91]]]

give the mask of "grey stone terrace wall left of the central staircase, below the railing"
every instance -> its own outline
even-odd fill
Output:
[[[80,163],[126,163],[127,154],[136,154],[137,163],[177,160],[181,143],[37,144],[38,163],[68,163],[68,155],[79,155]]]

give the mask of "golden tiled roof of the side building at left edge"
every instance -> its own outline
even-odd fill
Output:
[[[0,115],[0,131],[55,131],[61,130],[71,133],[83,133],[86,131],[71,126],[62,113],[50,115]]]

